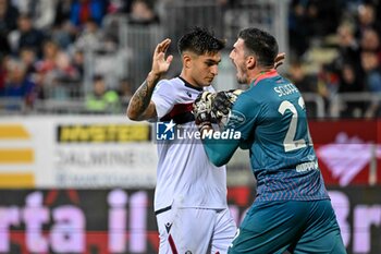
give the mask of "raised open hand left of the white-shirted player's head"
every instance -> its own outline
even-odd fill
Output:
[[[165,57],[167,50],[171,44],[171,39],[167,38],[156,46],[152,59],[152,72],[161,75],[168,71],[173,60],[173,56]]]

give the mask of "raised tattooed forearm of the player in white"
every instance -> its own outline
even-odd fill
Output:
[[[144,112],[147,110],[151,101],[155,86],[159,82],[159,80],[160,80],[159,74],[150,72],[147,75],[147,78],[135,92],[127,107],[127,117],[131,120],[135,120],[135,121],[144,120],[142,119],[142,117]]]

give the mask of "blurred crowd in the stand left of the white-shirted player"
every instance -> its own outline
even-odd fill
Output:
[[[78,94],[85,51],[118,48],[118,31],[103,27],[114,14],[131,24],[159,22],[146,0],[0,0],[0,99],[32,107],[38,99],[85,98],[89,110],[114,109],[119,97],[132,94],[127,77],[109,90],[105,77],[94,74],[93,92]]]

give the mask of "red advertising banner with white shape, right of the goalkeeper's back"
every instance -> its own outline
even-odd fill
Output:
[[[377,120],[310,121],[325,184],[381,184],[380,126]]]

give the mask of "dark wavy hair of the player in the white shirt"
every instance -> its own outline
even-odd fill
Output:
[[[201,27],[194,27],[190,32],[183,35],[177,43],[180,55],[186,50],[189,50],[198,56],[205,53],[216,53],[224,47],[224,40],[214,37],[211,32]]]

